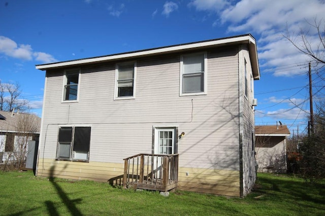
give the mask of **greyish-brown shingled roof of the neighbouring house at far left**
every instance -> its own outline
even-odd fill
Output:
[[[39,134],[41,130],[41,118],[37,115],[19,113],[18,112],[7,112],[0,111],[0,132],[16,132],[17,124],[19,123],[19,119],[21,116],[31,116],[34,117],[36,124],[38,125],[37,131],[35,134]]]

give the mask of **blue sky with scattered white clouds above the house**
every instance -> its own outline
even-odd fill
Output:
[[[317,0],[0,0],[0,79],[18,81],[30,111],[41,116],[45,72],[36,64],[251,33],[261,70],[256,125],[280,120],[291,133],[299,125],[301,133],[310,59],[283,34],[308,30],[306,21],[324,14],[325,2]]]

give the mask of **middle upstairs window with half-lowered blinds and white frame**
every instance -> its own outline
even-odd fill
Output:
[[[115,99],[135,97],[136,63],[116,64],[115,69]]]

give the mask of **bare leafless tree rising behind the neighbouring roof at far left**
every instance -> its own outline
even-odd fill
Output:
[[[21,111],[28,110],[28,101],[20,99],[21,86],[18,82],[2,83],[0,81],[0,110],[12,111],[19,109]]]

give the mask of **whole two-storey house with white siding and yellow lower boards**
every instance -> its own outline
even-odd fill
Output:
[[[141,182],[170,174],[180,190],[238,197],[254,185],[250,34],[36,68],[46,70],[38,176],[127,186],[125,158],[143,153]],[[157,159],[166,154],[173,171]]]

